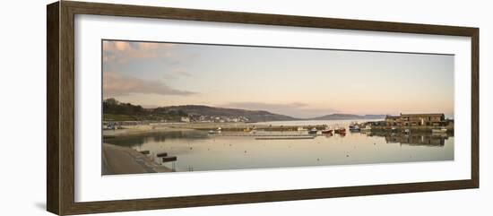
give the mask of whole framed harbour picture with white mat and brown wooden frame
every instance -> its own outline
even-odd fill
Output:
[[[49,212],[479,187],[479,29],[48,4]]]

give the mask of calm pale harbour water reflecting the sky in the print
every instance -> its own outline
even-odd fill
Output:
[[[293,121],[263,124],[328,124],[346,126],[347,129],[350,122]],[[299,134],[271,134],[289,133]],[[238,133],[209,135],[203,131],[169,132],[105,139],[105,143],[125,145],[138,151],[149,150],[155,161],[177,171],[454,160],[454,137],[445,134],[347,133],[343,136],[319,135],[315,139],[303,140],[255,140],[251,136],[229,134]],[[161,163],[155,157],[160,152],[177,156],[177,161]]]

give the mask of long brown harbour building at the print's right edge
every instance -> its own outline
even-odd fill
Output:
[[[443,126],[447,124],[445,115],[433,114],[401,114],[400,116],[386,116],[387,126]]]

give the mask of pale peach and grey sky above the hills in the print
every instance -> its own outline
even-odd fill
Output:
[[[454,115],[454,56],[102,41],[103,98],[291,117]]]

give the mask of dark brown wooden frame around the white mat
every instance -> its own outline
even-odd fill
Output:
[[[479,29],[398,22],[372,22],[260,13],[61,1],[47,6],[47,208],[60,215],[124,212],[191,206],[261,203],[370,194],[478,188]],[[471,178],[375,186],[344,186],[239,194],[211,194],[79,203],[74,201],[74,15],[251,23],[342,30],[374,30],[471,37]]]

